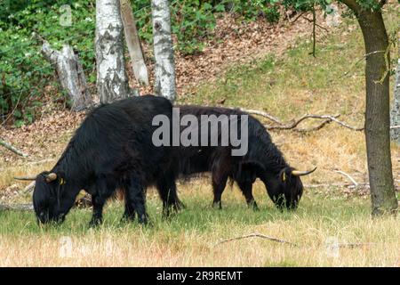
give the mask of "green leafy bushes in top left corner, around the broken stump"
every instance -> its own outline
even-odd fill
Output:
[[[21,126],[35,118],[35,102],[41,99],[44,86],[54,75],[51,64],[40,52],[42,37],[55,49],[72,45],[79,52],[84,69],[93,69],[94,3],[9,1],[0,9],[0,121],[12,118],[15,126]],[[65,12],[60,7],[64,4],[70,4],[70,26],[60,25]]]

